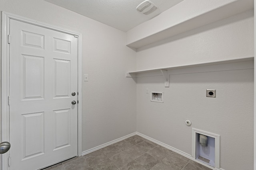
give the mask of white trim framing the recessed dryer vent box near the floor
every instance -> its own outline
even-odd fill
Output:
[[[220,168],[220,135],[192,128],[192,157],[196,158],[196,133],[215,139],[215,167]]]

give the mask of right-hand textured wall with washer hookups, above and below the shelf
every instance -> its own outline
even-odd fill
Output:
[[[253,56],[253,23],[250,10],[138,49],[137,70]],[[192,128],[216,133],[220,168],[253,169],[252,63],[243,70],[234,65],[235,70],[207,72],[204,67],[170,75],[169,88],[163,76],[137,78],[137,131],[187,154]],[[164,92],[164,103],[150,102],[146,88]],[[216,89],[216,98],[206,98],[206,89]]]

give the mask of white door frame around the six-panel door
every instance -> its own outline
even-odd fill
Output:
[[[2,141],[9,141],[9,44],[10,19],[38,25],[78,37],[78,156],[82,155],[82,34],[2,11]],[[12,146],[12,144],[11,144]],[[2,170],[8,170],[9,152],[2,154]]]

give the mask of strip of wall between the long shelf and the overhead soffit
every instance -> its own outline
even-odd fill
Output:
[[[137,70],[253,56],[253,10],[138,49]]]

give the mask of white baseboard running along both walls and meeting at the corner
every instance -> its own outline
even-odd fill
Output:
[[[171,147],[171,146],[169,146],[169,145],[166,145],[165,143],[162,143],[162,142],[160,142],[160,141],[157,141],[156,139],[153,139],[153,138],[151,138],[151,137],[148,137],[148,136],[143,135],[143,134],[138,133],[138,132],[131,133],[130,135],[126,135],[126,136],[124,136],[124,137],[120,137],[120,138],[118,138],[118,139],[116,139],[116,140],[113,140],[113,141],[110,141],[110,142],[108,142],[108,143],[99,145],[98,147],[94,147],[94,148],[92,148],[92,149],[85,150],[85,151],[82,152],[82,155],[89,154],[89,153],[91,153],[91,152],[94,152],[94,151],[96,151],[96,150],[102,149],[102,148],[104,148],[104,147],[107,147],[107,146],[109,146],[109,145],[112,145],[112,144],[114,144],[114,143],[117,143],[117,142],[119,142],[119,141],[122,141],[122,140],[127,139],[127,138],[129,138],[129,137],[132,137],[132,136],[134,136],[134,135],[138,135],[138,136],[140,136],[140,137],[143,137],[143,138],[145,138],[145,139],[148,139],[149,141],[152,141],[152,142],[154,142],[154,143],[156,143],[156,144],[158,144],[158,145],[161,145],[162,147],[165,147],[165,148],[167,148],[167,149],[170,149],[170,150],[172,150],[172,151],[174,151],[174,152],[176,152],[176,153],[178,153],[178,154],[181,154],[182,156],[185,156],[186,158],[189,158],[189,159],[191,159],[191,160],[193,160],[193,161],[195,161],[195,162],[198,162],[199,164],[202,164],[202,165],[204,165],[204,166],[206,166],[206,167],[208,167],[208,168],[211,168],[211,169],[213,169],[213,170],[224,170],[224,169],[222,169],[222,168],[213,168],[212,166],[203,164],[202,162],[200,162],[200,161],[194,159],[194,158],[192,157],[192,155],[187,154],[186,152],[183,152],[183,151],[181,151],[181,150],[178,150],[178,149],[176,149],[176,148],[174,148],[174,147]]]

